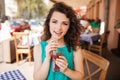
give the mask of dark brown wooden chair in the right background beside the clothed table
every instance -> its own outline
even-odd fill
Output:
[[[102,56],[103,46],[105,46],[107,44],[107,42],[105,42],[105,37],[108,38],[109,33],[110,33],[110,31],[103,33],[101,35],[101,38],[99,41],[94,42],[93,45],[89,45],[89,50],[97,51],[97,52],[99,52],[99,55]]]

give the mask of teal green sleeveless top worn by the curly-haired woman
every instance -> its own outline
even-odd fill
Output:
[[[40,42],[41,48],[42,48],[42,62],[45,59],[46,56],[46,51],[45,51],[45,47],[48,45],[48,43],[46,41],[42,41]],[[63,46],[63,47],[59,47],[58,51],[62,50],[64,51],[62,53],[63,56],[66,57],[67,61],[68,61],[68,68],[71,70],[74,70],[74,55],[73,55],[73,48],[71,48],[71,52],[68,51],[67,46]],[[52,68],[52,59],[50,61],[50,69],[49,69],[49,73],[47,76],[46,80],[71,80],[69,77],[67,77],[66,75],[64,75],[62,72],[60,71],[53,71]]]

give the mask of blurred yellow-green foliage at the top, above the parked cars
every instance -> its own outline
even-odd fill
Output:
[[[18,0],[19,16],[27,19],[45,17],[48,12],[43,0]]]

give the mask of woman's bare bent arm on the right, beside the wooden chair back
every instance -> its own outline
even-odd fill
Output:
[[[81,48],[77,48],[74,52],[74,66],[75,71],[67,68],[64,74],[71,78],[72,80],[83,80],[84,77],[84,67],[83,67],[83,55]]]

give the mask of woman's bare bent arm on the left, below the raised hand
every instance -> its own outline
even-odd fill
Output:
[[[42,63],[42,51],[40,45],[34,47],[34,80],[45,80],[50,66],[50,59],[45,58]]]

